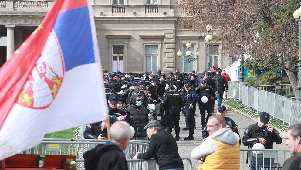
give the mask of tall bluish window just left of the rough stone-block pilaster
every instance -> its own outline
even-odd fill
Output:
[[[146,72],[157,71],[158,46],[146,46]]]

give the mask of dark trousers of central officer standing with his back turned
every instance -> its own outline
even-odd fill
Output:
[[[167,131],[169,133],[172,132],[172,127],[174,125],[174,131],[176,132],[176,136],[180,135],[180,126],[179,126],[179,121],[180,121],[180,109],[175,108],[175,109],[168,109],[167,112]]]

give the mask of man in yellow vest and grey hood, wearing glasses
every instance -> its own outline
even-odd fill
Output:
[[[198,160],[198,169],[240,168],[239,139],[230,128],[226,128],[225,118],[210,116],[207,123],[209,137],[194,148],[191,157]]]

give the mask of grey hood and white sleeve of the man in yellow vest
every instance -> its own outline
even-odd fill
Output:
[[[191,158],[198,160],[205,155],[213,154],[216,151],[216,143],[214,140],[224,142],[226,144],[235,145],[239,141],[239,136],[231,130],[231,128],[224,127],[215,131],[209,138],[205,138],[203,143],[194,148],[191,152]],[[212,138],[212,139],[210,139]]]

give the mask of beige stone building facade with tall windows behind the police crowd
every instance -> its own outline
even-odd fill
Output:
[[[42,22],[53,2],[0,0],[1,63]],[[124,73],[206,69],[207,32],[193,32],[181,25],[185,16],[179,11],[176,0],[91,0],[91,4],[104,69]],[[221,42],[215,41],[216,31],[211,32],[211,67],[226,68],[234,61],[221,55]],[[6,46],[1,45],[1,39],[6,41]],[[198,60],[189,65],[177,56],[179,49],[183,54],[188,50],[185,46],[188,41],[192,53],[197,50],[201,53]]]

